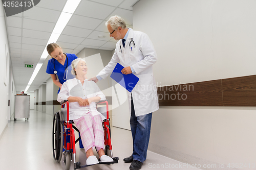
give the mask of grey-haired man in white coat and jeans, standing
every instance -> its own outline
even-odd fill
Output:
[[[150,140],[152,112],[158,110],[158,96],[152,65],[157,61],[154,46],[145,33],[126,28],[124,20],[115,15],[105,23],[110,36],[116,43],[111,61],[99,74],[90,79],[95,83],[111,74],[117,63],[124,66],[122,74],[135,74],[139,82],[130,93],[130,125],[133,136],[133,154],[124,158],[131,170],[140,169],[146,159],[148,141]]]

